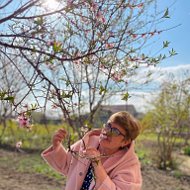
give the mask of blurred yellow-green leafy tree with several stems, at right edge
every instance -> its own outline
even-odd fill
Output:
[[[174,167],[172,153],[179,137],[189,138],[190,79],[172,77],[161,85],[159,95],[152,101],[143,123],[157,133],[158,164],[160,168]]]

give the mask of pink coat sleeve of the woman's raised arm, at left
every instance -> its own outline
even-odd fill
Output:
[[[78,150],[79,147],[80,141],[72,145],[72,149],[75,150]],[[53,149],[53,147],[50,146],[42,152],[41,156],[54,170],[67,176],[72,155],[65,150],[63,145],[56,149]]]

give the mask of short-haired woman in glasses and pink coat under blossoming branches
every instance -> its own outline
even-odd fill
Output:
[[[140,190],[140,163],[134,152],[139,123],[128,112],[113,114],[102,130],[87,133],[65,150],[59,129],[42,157],[67,176],[65,190]]]

